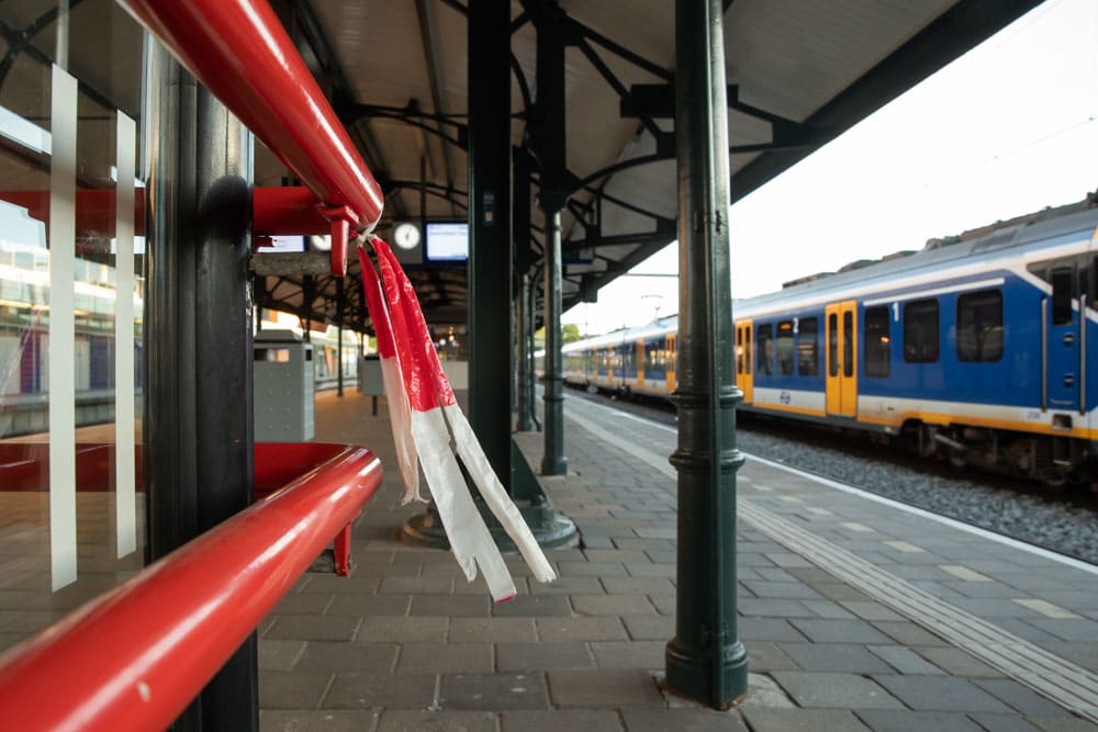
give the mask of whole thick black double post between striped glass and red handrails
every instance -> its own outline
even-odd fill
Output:
[[[251,143],[153,44],[145,474],[154,561],[251,503]],[[173,730],[257,730],[253,634]]]

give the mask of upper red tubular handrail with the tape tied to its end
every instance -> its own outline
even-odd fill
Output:
[[[383,196],[266,0],[119,0],[324,202],[332,271]],[[338,260],[338,261],[337,261]]]

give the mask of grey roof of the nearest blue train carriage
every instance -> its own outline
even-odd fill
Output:
[[[930,239],[922,250],[909,256],[890,256],[867,264],[855,262],[834,274],[796,280],[778,292],[736,301],[733,312],[740,317],[762,314],[777,306],[807,306],[853,286],[872,290],[874,284],[884,286],[905,275],[950,270],[1027,248],[1046,249],[1075,241],[1079,236],[1089,239],[1096,228],[1098,192],[1078,203],[1018,216],[957,236]]]

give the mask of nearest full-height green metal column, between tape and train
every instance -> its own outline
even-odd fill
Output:
[[[679,157],[679,566],[671,690],[715,709],[747,692],[736,622],[736,388],[721,0],[675,3]]]

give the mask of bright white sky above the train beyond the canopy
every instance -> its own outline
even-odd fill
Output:
[[[1049,0],[733,205],[732,297],[1096,189],[1098,1]],[[677,247],[562,322],[595,335],[677,313]]]

